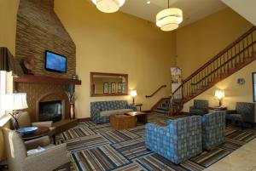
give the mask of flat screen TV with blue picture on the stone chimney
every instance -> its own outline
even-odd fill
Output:
[[[66,56],[45,50],[45,69],[61,73],[67,72]]]

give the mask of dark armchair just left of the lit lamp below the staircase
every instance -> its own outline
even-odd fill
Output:
[[[208,100],[194,100],[194,105],[189,107],[189,116],[208,113]]]

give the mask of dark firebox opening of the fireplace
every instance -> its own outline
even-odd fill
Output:
[[[61,121],[63,114],[63,105],[61,100],[39,102],[39,122],[43,121]]]

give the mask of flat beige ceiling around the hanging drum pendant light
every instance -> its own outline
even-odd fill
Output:
[[[167,9],[168,0],[126,0],[120,10],[126,14],[131,14],[155,22],[155,15],[162,9]],[[181,26],[189,25],[196,20],[214,14],[227,6],[220,0],[170,0],[170,7],[183,10],[183,22]]]

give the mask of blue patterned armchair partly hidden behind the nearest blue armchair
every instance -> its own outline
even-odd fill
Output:
[[[225,111],[215,111],[201,117],[203,149],[212,150],[224,143]]]

